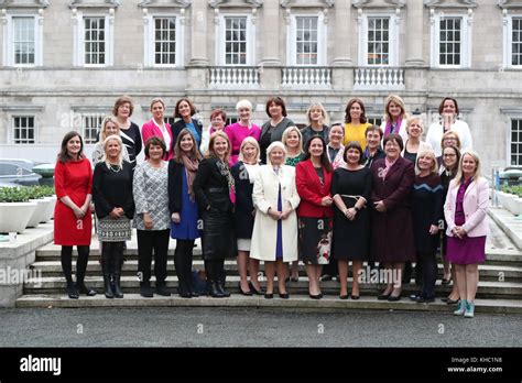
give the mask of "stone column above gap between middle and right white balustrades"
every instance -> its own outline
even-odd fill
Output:
[[[351,66],[351,40],[357,33],[351,33],[351,1],[341,0],[335,3],[335,31],[328,33],[335,39],[335,52],[331,65]],[[357,37],[355,39],[357,41]]]

